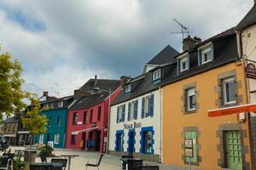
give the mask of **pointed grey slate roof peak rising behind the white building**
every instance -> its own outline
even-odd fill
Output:
[[[162,65],[167,62],[175,62],[174,56],[177,54],[179,53],[176,49],[167,45],[159,54],[155,55],[153,59],[148,61],[147,65]]]

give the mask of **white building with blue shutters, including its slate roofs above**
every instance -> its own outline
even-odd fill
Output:
[[[161,161],[162,88],[177,51],[164,48],[150,61],[145,73],[125,84],[111,106],[108,151],[143,160]],[[169,61],[168,64],[165,64]],[[149,63],[149,62],[148,62]]]

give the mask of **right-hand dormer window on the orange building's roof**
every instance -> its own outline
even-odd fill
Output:
[[[199,65],[204,65],[213,59],[213,48],[212,43],[207,44],[198,49],[199,54]]]

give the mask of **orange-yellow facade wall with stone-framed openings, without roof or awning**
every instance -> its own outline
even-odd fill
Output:
[[[209,117],[207,111],[224,107],[219,103],[219,77],[236,74],[236,101],[246,103],[244,67],[242,62],[224,65],[186,78],[163,88],[163,158],[164,163],[188,166],[184,156],[186,135],[195,135],[196,161],[199,169],[221,169],[224,167],[224,133],[237,131],[241,136],[242,169],[249,168],[249,139],[247,122],[238,122],[237,116]],[[196,89],[196,111],[184,114],[183,91],[193,83]],[[189,134],[189,132],[195,132]]]

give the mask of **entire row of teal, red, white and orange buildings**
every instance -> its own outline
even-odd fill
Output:
[[[95,77],[63,98],[44,92],[47,133],[34,142],[199,169],[255,169],[255,62],[256,5],[227,31],[185,38],[182,53],[166,46],[142,75]],[[29,138],[19,126],[17,144]]]

